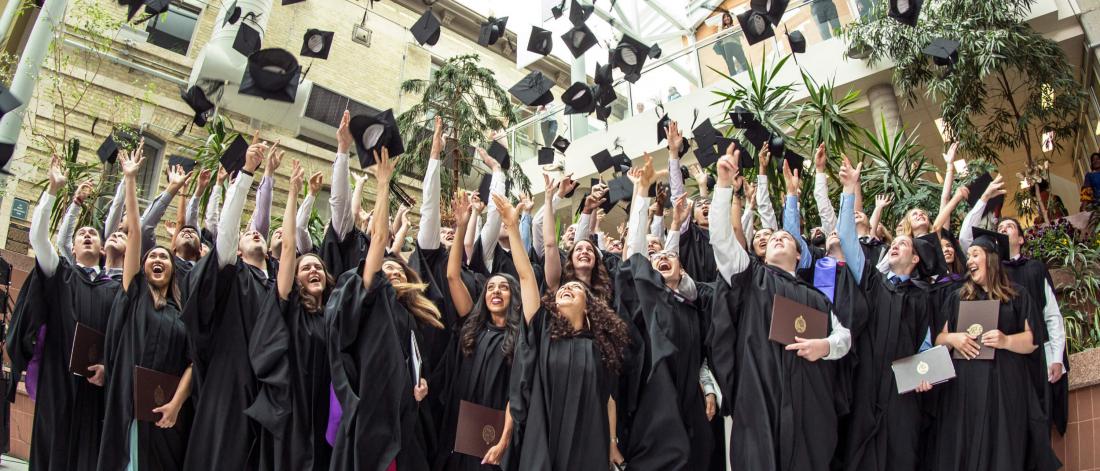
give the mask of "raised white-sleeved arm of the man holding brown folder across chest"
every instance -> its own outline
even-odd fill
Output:
[[[711,212],[707,215],[714,261],[727,283],[733,281],[734,275],[749,266],[749,254],[737,243],[730,222],[730,210],[734,205],[733,183],[738,174],[735,162],[738,161],[739,152],[730,145],[726,150],[726,155],[718,160],[718,182],[714,188],[714,198],[711,200]],[[669,176],[671,178],[671,174]]]

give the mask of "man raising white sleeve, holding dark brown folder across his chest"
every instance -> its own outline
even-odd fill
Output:
[[[831,313],[824,294],[794,275],[799,248],[785,231],[768,241],[765,262],[751,260],[738,242],[744,183],[737,175],[738,151],[730,145],[718,161],[711,244],[721,272],[715,288],[712,368],[732,412],[729,460],[734,469],[825,470],[834,456],[838,416],[847,412],[837,392],[837,365],[851,344],[850,332],[831,315],[824,339],[796,339],[783,347],[768,340],[772,300],[787,297]],[[789,195],[798,186],[787,182]],[[730,200],[733,199],[733,215]],[[733,221],[733,222],[732,222]]]

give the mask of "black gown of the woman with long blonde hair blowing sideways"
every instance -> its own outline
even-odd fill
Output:
[[[413,315],[381,272],[370,289],[359,274],[341,275],[324,310],[332,388],[342,409],[329,469],[384,471],[396,459],[400,471],[428,470],[413,397]]]

